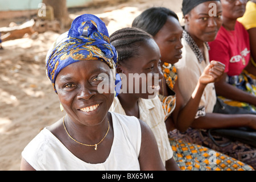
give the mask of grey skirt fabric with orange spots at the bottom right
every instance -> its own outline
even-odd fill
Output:
[[[253,167],[199,144],[188,142],[191,137],[174,130],[169,133],[174,159],[185,171],[253,171]]]

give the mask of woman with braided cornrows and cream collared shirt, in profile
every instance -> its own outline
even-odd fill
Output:
[[[178,170],[179,167],[172,158],[173,151],[168,142],[162,105],[157,97],[158,88],[154,87],[152,85],[154,81],[150,80],[155,80],[156,76],[163,77],[157,44],[151,35],[137,28],[122,28],[115,31],[110,36],[110,42],[117,49],[117,73],[122,77],[121,93],[114,98],[110,110],[119,114],[133,115],[146,122],[155,135],[164,166],[167,170]],[[134,76],[135,81],[131,75]],[[159,78],[156,78],[156,85]],[[143,85],[145,82],[148,84]],[[139,92],[135,91],[136,84]],[[144,89],[145,92],[142,91]],[[154,89],[154,93],[150,92],[151,89]],[[152,99],[148,99],[150,97]]]

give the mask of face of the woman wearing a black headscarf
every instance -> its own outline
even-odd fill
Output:
[[[210,16],[212,6],[216,4],[216,16]],[[208,1],[196,6],[191,12],[184,16],[185,30],[192,36],[195,42],[211,42],[216,38],[217,32],[222,24],[222,7],[218,1]]]

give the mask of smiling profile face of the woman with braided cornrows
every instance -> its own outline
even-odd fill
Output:
[[[163,73],[160,67],[160,51],[158,45],[155,43],[154,39],[148,39],[139,44],[139,55],[136,57],[131,57],[129,60],[126,60],[125,63],[118,64],[118,69],[122,69],[122,73],[127,77],[127,90],[131,85],[129,83],[133,82],[133,93],[136,94],[139,98],[149,98],[148,96],[154,97],[158,93],[159,86],[152,88],[152,85],[157,84],[159,79],[163,78]],[[118,70],[117,69],[117,70]],[[137,75],[135,80],[139,80],[139,75],[145,75],[145,79],[140,79],[139,83],[133,80],[133,77],[129,74]],[[148,77],[148,74],[152,76]],[[156,77],[158,76],[158,78]],[[156,82],[154,79],[156,78]],[[123,80],[122,80],[123,81]],[[147,83],[147,84],[146,84]],[[139,84],[139,93],[136,93],[135,88]],[[143,88],[146,86],[146,88]],[[142,90],[146,89],[146,93],[143,93]],[[149,90],[154,90],[152,93]],[[127,91],[127,93],[130,93]]]

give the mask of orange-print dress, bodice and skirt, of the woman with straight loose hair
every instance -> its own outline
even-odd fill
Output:
[[[176,94],[174,92],[177,71],[175,65],[164,63],[162,67],[164,79],[169,89],[174,93],[170,96],[162,96],[164,117],[171,117],[176,106]],[[163,86],[163,85],[160,85]],[[187,142],[186,135],[179,131],[172,130],[169,135],[170,144],[174,151],[174,159],[181,170],[185,171],[251,171],[251,166],[240,162],[228,155],[221,154],[210,148]]]

